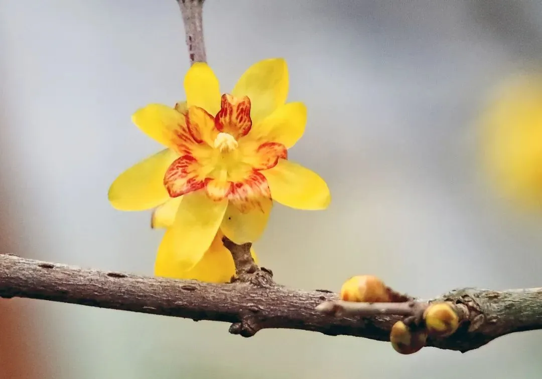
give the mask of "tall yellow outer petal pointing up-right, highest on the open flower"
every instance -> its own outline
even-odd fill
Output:
[[[288,97],[288,66],[282,58],[257,62],[241,75],[231,94],[248,96],[253,122],[263,120]]]

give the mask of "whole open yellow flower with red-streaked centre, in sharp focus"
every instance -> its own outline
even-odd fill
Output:
[[[325,181],[287,160],[287,149],[304,133],[307,112],[300,102],[286,103],[284,60],[254,64],[231,94],[222,95],[209,66],[196,63],[184,88],[185,105],[150,104],[135,112],[135,125],[167,148],[129,168],[109,188],[113,207],[125,211],[182,198],[158,258],[191,270],[219,228],[237,244],[257,240],[272,200],[304,210],[328,206]]]

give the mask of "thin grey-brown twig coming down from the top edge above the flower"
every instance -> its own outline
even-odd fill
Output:
[[[190,64],[207,62],[205,42],[203,40],[203,2],[205,0],[177,0],[183,14],[186,46]]]

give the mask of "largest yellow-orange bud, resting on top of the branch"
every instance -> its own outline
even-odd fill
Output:
[[[341,300],[347,302],[389,303],[388,287],[372,275],[358,275],[346,280],[340,290]]]

